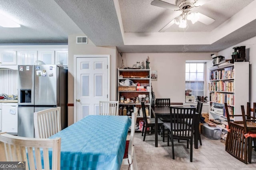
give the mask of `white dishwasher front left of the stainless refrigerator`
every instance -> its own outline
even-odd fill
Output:
[[[2,103],[2,132],[18,134],[18,104]]]

